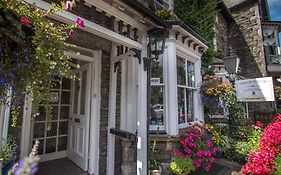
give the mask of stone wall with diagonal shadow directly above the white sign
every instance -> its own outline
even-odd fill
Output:
[[[247,78],[266,76],[259,6],[245,4],[231,9],[235,23],[230,24],[229,44],[240,58],[241,72]]]

